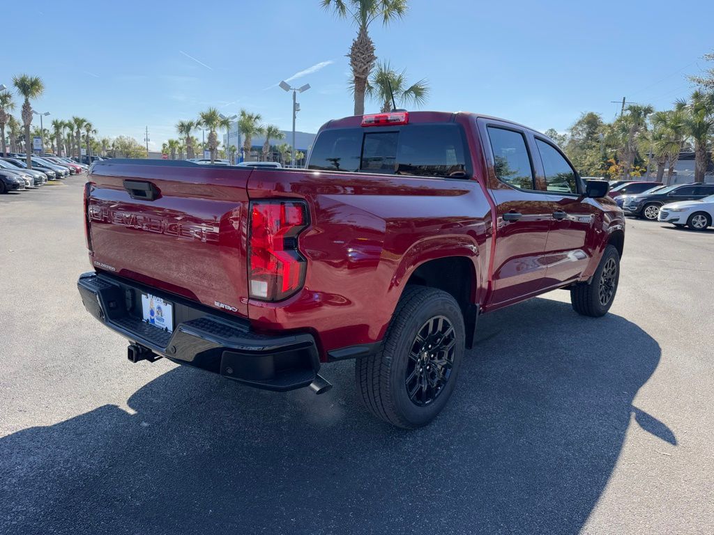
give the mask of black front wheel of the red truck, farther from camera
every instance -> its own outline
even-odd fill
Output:
[[[580,282],[570,289],[573,310],[583,316],[604,316],[613,305],[619,280],[620,254],[608,245],[590,283]]]

